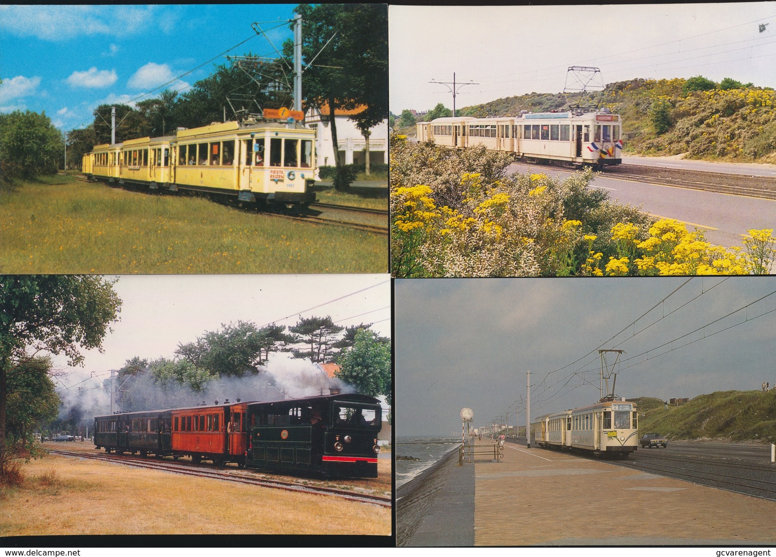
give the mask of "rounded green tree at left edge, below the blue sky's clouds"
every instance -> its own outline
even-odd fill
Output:
[[[7,178],[56,174],[63,158],[62,134],[45,112],[0,114],[0,167]]]

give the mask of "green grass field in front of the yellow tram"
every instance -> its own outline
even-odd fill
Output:
[[[378,273],[387,253],[385,235],[72,176],[0,192],[0,273]]]

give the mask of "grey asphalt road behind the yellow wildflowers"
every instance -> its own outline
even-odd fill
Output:
[[[641,160],[639,158],[639,161]],[[680,168],[690,169],[691,167],[685,164],[696,161],[674,162],[681,164]],[[510,165],[510,170],[514,172],[525,172],[528,168],[550,176],[564,177],[572,173],[549,166],[521,163]],[[715,168],[715,171],[722,169]],[[725,247],[743,247],[741,240],[747,230],[776,228],[776,200],[773,199],[632,182],[609,178],[605,173],[595,178],[591,187],[605,189],[612,200],[617,199],[632,206],[640,205],[643,211],[653,216],[679,220],[688,225],[689,230],[698,227],[704,230],[706,240]]]

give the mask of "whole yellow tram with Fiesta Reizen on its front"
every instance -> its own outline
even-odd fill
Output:
[[[213,124],[175,136],[95,145],[82,168],[90,180],[308,206],[316,200],[315,133],[272,121]]]

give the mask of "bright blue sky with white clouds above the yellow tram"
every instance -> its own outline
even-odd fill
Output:
[[[274,55],[293,38],[286,5],[0,5],[0,112],[46,112],[62,130],[92,122],[92,110],[144,100],[159,85],[185,91],[227,54]],[[253,22],[268,31],[258,36]],[[200,64],[203,67],[178,78]]]

